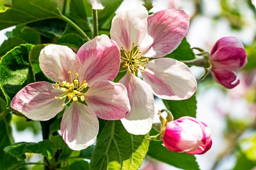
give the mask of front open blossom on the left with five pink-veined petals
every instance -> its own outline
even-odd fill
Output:
[[[45,121],[71,103],[62,117],[61,135],[71,149],[85,149],[96,141],[96,116],[122,119],[131,109],[125,86],[111,82],[119,64],[119,48],[106,35],[86,42],[77,54],[67,46],[47,45],[41,50],[39,65],[56,83],[27,85],[12,99],[11,106],[29,119]]]

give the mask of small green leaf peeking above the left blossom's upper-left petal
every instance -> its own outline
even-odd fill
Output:
[[[79,49],[84,44],[84,40],[79,35],[70,33],[70,34],[65,34],[64,36],[62,36],[56,42],[56,44],[67,45],[69,47],[75,47],[75,48]]]

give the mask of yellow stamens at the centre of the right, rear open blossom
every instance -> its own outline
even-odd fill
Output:
[[[125,51],[123,47],[122,51],[125,54],[125,57],[121,55],[121,59],[124,59],[124,65],[122,67],[127,67],[129,73],[133,72],[135,76],[136,70],[140,70],[140,67],[146,68],[144,64],[148,64],[149,59],[145,58],[140,51],[140,48],[137,47],[136,51],[134,51],[134,42],[132,43],[132,51]],[[144,73],[143,70],[140,71],[141,73]]]

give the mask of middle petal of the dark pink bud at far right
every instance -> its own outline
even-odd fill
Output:
[[[210,56],[212,68],[239,71],[247,64],[247,53],[243,48],[223,47]]]

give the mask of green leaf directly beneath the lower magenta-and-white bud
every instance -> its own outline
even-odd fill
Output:
[[[151,129],[150,135],[154,136],[157,131]],[[186,153],[171,152],[163,145],[163,141],[150,141],[147,155],[151,158],[162,161],[166,164],[184,169],[184,170],[200,170],[195,156]]]

